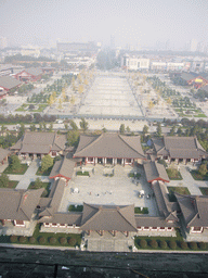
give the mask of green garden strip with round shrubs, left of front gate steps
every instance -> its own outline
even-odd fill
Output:
[[[63,232],[40,232],[40,225],[36,226],[32,237],[0,236],[1,243],[53,245],[53,247],[80,247],[81,235]]]

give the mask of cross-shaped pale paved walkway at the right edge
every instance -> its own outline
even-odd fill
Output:
[[[203,193],[202,193],[199,187],[208,187],[208,181],[195,180],[190,173],[190,168],[193,168],[192,166],[180,165],[179,167],[180,167],[180,173],[181,173],[183,179],[182,180],[171,180],[168,186],[170,186],[170,187],[187,187],[191,194],[202,195]]]

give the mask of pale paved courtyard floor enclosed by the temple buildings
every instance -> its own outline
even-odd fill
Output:
[[[94,170],[92,170],[94,168]],[[114,176],[104,176],[112,173]],[[61,212],[66,212],[69,204],[110,204],[127,205],[134,204],[140,207],[148,207],[150,215],[158,215],[157,206],[154,198],[147,199],[146,195],[152,192],[146,181],[142,167],[132,168],[131,166],[116,165],[114,168],[107,168],[102,165],[87,166],[84,170],[90,172],[90,177],[76,176],[72,178],[65,188],[64,197],[60,206]],[[93,174],[94,172],[94,174]],[[128,177],[130,172],[141,174],[139,180]],[[138,185],[136,185],[138,184]],[[144,190],[144,198],[139,198],[139,192]],[[78,192],[77,192],[78,191]]]

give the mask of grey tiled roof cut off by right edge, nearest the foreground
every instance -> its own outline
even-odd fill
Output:
[[[182,195],[176,193],[185,225],[187,227],[208,227],[208,197]]]

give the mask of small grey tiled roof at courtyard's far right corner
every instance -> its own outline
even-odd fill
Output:
[[[153,180],[162,179],[164,181],[169,182],[169,177],[167,175],[166,168],[164,165],[157,162],[147,162],[144,164],[144,172],[148,182]]]

